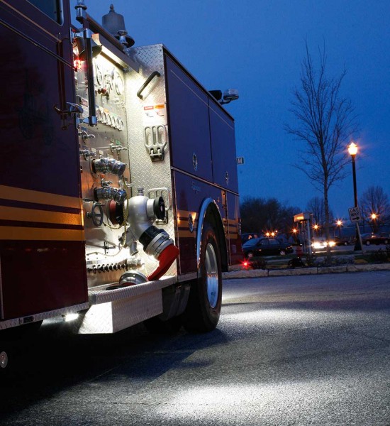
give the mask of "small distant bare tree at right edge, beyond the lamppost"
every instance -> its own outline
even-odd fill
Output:
[[[380,186],[371,186],[364,191],[360,198],[360,205],[363,217],[368,220],[373,232],[377,232],[379,226],[389,219],[389,197]]]

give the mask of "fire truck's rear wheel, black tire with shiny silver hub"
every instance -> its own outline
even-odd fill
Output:
[[[216,328],[222,305],[221,253],[213,227],[207,222],[201,239],[201,277],[191,283],[183,314],[187,332],[211,332]]]

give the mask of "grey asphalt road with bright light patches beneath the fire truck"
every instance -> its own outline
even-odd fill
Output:
[[[390,425],[389,332],[390,271],[225,280],[209,334],[45,324],[0,425]]]

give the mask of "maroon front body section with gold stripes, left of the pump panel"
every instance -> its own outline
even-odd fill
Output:
[[[0,318],[87,302],[68,1],[0,2]]]

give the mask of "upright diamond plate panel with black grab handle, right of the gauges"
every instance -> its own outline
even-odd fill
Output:
[[[169,236],[175,240],[174,218],[172,210],[172,175],[169,158],[169,129],[167,126],[167,99],[165,93],[165,67],[164,51],[162,45],[150,45],[134,48],[135,60],[140,65],[139,72],[130,70],[125,75],[126,99],[129,99],[127,109],[128,151],[130,157],[130,173],[135,188],[143,187],[145,195],[151,188],[167,188],[161,195],[166,204],[170,204],[167,211],[168,223],[157,224],[157,227],[165,229]],[[155,77],[143,91],[143,99],[137,96],[138,90],[143,86],[152,72],[159,72],[160,77]],[[162,107],[164,106],[164,107]],[[158,107],[158,108],[156,108]],[[164,126],[166,131],[167,146],[165,158],[162,161],[152,161],[149,151],[145,148],[145,127]],[[140,252],[142,249],[140,249]],[[145,268],[155,268],[155,263],[150,258],[143,257]],[[176,262],[169,268],[167,275],[177,275]]]

